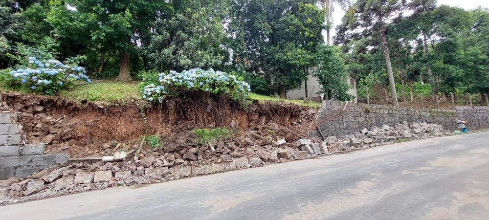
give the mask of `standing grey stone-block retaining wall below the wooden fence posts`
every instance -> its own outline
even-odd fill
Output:
[[[372,126],[394,126],[396,123],[426,122],[443,125],[447,130],[457,130],[457,120],[464,120],[471,129],[489,128],[489,107],[456,107],[452,109],[421,109],[368,105],[363,103],[325,101],[316,118],[318,130],[324,136],[344,136]],[[316,131],[310,136],[320,136]]]

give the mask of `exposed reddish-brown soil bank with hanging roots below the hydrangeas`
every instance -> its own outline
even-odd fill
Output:
[[[112,155],[114,151],[129,150],[146,134],[161,136],[162,146],[153,149],[160,154],[188,151],[199,146],[196,136],[189,132],[196,128],[232,129],[236,132],[225,142],[236,146],[248,145],[245,142],[251,141],[246,133],[249,130],[275,140],[285,137],[293,143],[299,136],[306,136],[306,131],[314,130],[318,111],[284,102],[255,101],[244,108],[212,97],[206,101],[187,99],[159,105],[132,102],[107,106],[53,96],[1,94],[20,115],[19,122],[29,143],[48,143],[47,153],[69,153],[70,157]],[[152,151],[149,146],[144,146],[144,150]]]

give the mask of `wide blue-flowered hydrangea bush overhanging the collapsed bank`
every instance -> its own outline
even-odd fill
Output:
[[[162,102],[167,97],[181,93],[207,92],[231,97],[234,101],[245,101],[251,91],[249,85],[234,75],[221,71],[200,68],[160,73],[159,83],[146,85],[141,93],[149,102]]]

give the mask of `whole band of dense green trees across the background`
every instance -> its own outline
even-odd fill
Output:
[[[394,104],[397,93],[407,100],[421,87],[433,95],[489,93],[487,8],[354,2],[3,0],[0,68],[35,56],[121,81],[138,72],[213,68],[243,77],[253,92],[282,97],[315,77],[324,98],[336,100],[350,98],[346,78],[354,74],[360,96],[365,87],[385,88]],[[346,13],[337,46],[325,46],[334,5]]]

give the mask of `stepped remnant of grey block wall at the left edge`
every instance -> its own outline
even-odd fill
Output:
[[[65,154],[44,154],[45,144],[26,144],[22,125],[10,111],[0,113],[0,179],[29,176],[37,170],[66,163]]]

